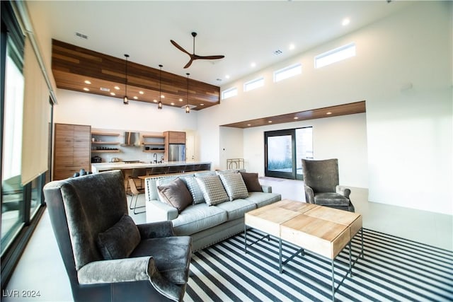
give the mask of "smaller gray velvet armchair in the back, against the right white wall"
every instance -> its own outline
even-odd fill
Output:
[[[302,175],[306,202],[355,211],[349,198],[351,190],[338,185],[337,158],[322,161],[302,159]]]

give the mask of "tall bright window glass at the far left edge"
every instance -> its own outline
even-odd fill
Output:
[[[23,85],[21,68],[13,60],[14,48],[6,43],[3,160],[1,167],[1,253],[23,224],[21,186]]]

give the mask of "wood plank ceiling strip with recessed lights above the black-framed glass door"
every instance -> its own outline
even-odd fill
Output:
[[[352,115],[355,113],[362,112],[366,112],[365,100],[326,108],[287,113],[285,115],[274,115],[272,117],[262,117],[255,120],[234,122],[231,124],[223,124],[222,126],[235,128],[251,128],[265,126],[269,124],[282,124],[287,122],[297,122],[301,120],[314,120],[323,117],[338,117],[340,115]]]

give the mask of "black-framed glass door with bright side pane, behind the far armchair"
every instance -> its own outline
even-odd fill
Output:
[[[312,129],[264,132],[265,176],[302,180],[302,158],[313,158]]]

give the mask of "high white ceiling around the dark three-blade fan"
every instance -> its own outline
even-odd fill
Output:
[[[179,76],[190,73],[215,86],[323,42],[350,33],[410,5],[410,1],[30,1],[50,22],[51,37],[96,52]],[[341,25],[344,18],[350,24]],[[223,54],[224,59],[197,60],[195,53]],[[76,33],[88,36],[87,40]],[[294,50],[289,50],[289,44]],[[276,56],[275,50],[282,54]],[[251,67],[251,62],[256,67]],[[226,75],[230,79],[226,79]],[[221,79],[219,81],[218,79]]]

